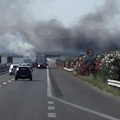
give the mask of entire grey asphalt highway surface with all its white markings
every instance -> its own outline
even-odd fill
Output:
[[[33,81],[0,75],[0,120],[120,120],[120,98],[50,65]]]

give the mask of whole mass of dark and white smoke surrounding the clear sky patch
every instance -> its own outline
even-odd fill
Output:
[[[1,52],[31,56],[35,51],[80,52],[91,48],[97,53],[120,49],[118,0],[105,0],[103,6],[69,28],[57,19],[37,20],[30,7],[37,2],[0,0]]]

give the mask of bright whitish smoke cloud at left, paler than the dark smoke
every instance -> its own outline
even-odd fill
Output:
[[[18,54],[23,56],[35,56],[34,46],[27,42],[22,35],[4,34],[0,35],[0,53]]]

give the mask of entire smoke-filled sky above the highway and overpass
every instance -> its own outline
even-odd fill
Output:
[[[119,0],[0,0],[0,53],[120,50]]]

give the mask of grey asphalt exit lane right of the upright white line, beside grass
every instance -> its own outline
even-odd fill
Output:
[[[120,120],[120,98],[52,66],[50,77],[59,120]]]

